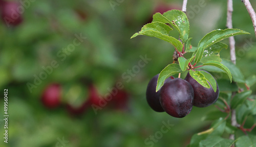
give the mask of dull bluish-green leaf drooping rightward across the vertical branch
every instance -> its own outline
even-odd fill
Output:
[[[244,75],[236,65],[226,59],[223,59],[221,63],[230,70],[234,82],[245,83]]]

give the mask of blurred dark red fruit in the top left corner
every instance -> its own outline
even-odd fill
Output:
[[[14,1],[6,1],[1,4],[1,17],[3,21],[7,24],[7,27],[17,26],[23,21],[22,13],[24,7]]]

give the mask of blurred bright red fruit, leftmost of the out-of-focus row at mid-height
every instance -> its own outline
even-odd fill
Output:
[[[41,101],[48,108],[56,108],[61,100],[61,86],[59,84],[51,84],[46,87],[42,93]]]

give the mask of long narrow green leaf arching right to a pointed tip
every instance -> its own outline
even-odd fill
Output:
[[[249,34],[249,33],[239,29],[225,29],[225,30],[218,29],[218,30],[211,31],[199,41],[195,62],[198,63],[202,59],[204,48],[209,47],[212,44],[215,44],[225,38],[235,36],[235,35],[242,35],[242,34]]]

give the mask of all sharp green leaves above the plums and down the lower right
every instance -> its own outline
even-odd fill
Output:
[[[179,32],[179,38],[175,39],[172,37],[172,28]],[[156,13],[153,16],[152,23],[146,24],[139,33],[135,33],[131,38],[134,38],[138,35],[146,35],[151,37],[157,37],[159,39],[162,39],[164,41],[169,42],[175,47],[175,51],[178,53],[178,64],[174,63],[167,65],[161,72],[158,78],[156,91],[158,91],[164,84],[165,79],[167,79],[170,76],[173,76],[175,74],[179,74],[184,72],[185,70],[189,70],[189,74],[192,78],[194,78],[198,83],[200,83],[202,86],[206,88],[210,88],[210,85],[213,87],[214,91],[216,91],[216,81],[214,78],[211,77],[210,74],[208,74],[205,71],[199,71],[195,70],[195,68],[203,67],[203,66],[214,66],[217,68],[218,71],[224,72],[227,74],[230,82],[232,82],[232,77],[234,82],[247,84],[244,80],[244,76],[241,74],[240,69],[231,63],[228,60],[223,60],[220,58],[220,51],[223,48],[227,48],[227,45],[225,43],[219,42],[225,38],[228,38],[230,36],[236,36],[236,35],[242,35],[242,34],[249,34],[248,32],[238,30],[238,29],[217,29],[214,31],[211,31],[210,33],[206,34],[198,43],[198,46],[191,46],[191,38],[188,39],[189,35],[189,22],[187,19],[187,16],[185,13],[179,10],[171,10],[167,11],[163,14]],[[170,35],[170,36],[169,36]],[[180,43],[178,43],[180,41]],[[186,46],[185,46],[186,44]],[[186,49],[184,49],[186,48]],[[184,55],[188,52],[191,52],[190,56],[188,56],[188,59],[184,58]],[[175,53],[174,53],[175,54]],[[221,69],[221,70],[219,70]],[[215,71],[215,70],[211,70]],[[255,79],[251,79],[254,81]],[[254,83],[254,82],[253,82]],[[210,84],[210,85],[209,85]],[[228,91],[225,91],[228,94]],[[231,139],[225,138],[223,136],[223,133],[225,130],[229,130],[228,134],[235,134],[237,132],[237,129],[231,129],[229,126],[231,126],[230,122],[230,113],[232,109],[237,109],[243,105],[246,104],[248,101],[248,97],[251,94],[251,90],[247,87],[247,90],[238,91],[236,95],[232,96],[227,100],[227,97],[221,97],[220,100],[222,100],[225,105],[222,105],[225,110],[220,109],[227,113],[227,116],[225,118],[219,117],[217,120],[212,122],[212,125],[210,129],[195,134],[190,141],[190,144],[187,146],[231,146],[234,142],[236,146],[241,146],[242,144],[247,144],[246,146],[254,146],[255,142],[253,142],[251,138],[255,138],[255,135],[251,135],[251,138],[248,136],[239,135],[237,136],[238,139],[236,141],[233,141]],[[253,101],[255,101],[253,99]],[[228,105],[228,103],[230,106]],[[245,106],[244,106],[245,107]],[[210,114],[209,114],[210,115]],[[212,115],[212,114],[211,114]],[[245,115],[245,116],[244,116]],[[247,110],[246,113],[242,115],[238,115],[238,120],[246,120],[246,118],[252,114],[251,110]],[[253,115],[254,116],[254,115]],[[211,117],[211,116],[208,116]],[[243,117],[243,118],[241,118]],[[254,116],[255,117],[255,116]],[[254,120],[254,125],[256,125],[256,120]],[[244,123],[244,122],[243,122]],[[253,126],[251,129],[244,129],[244,126],[241,125],[239,127],[240,130],[242,130],[245,135],[247,135],[246,131],[251,131],[255,126]],[[231,132],[230,132],[231,129]],[[244,139],[242,139],[244,138]]]

